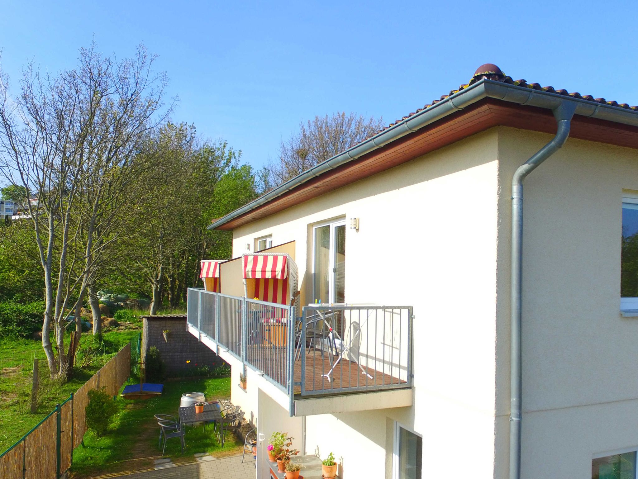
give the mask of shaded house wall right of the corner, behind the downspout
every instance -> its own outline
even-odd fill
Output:
[[[499,131],[496,476],[505,478],[510,184],[551,135]],[[638,190],[638,152],[573,138],[525,181],[523,479],[588,478],[595,455],[638,448],[638,318],[619,314],[623,189]]]

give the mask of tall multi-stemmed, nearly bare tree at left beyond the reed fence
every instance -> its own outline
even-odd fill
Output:
[[[144,47],[117,61],[91,45],[80,50],[77,69],[56,76],[29,64],[15,98],[0,72],[0,174],[30,198],[45,280],[42,346],[52,377],[70,374],[81,329],[77,317],[66,350],[66,320],[118,235],[113,218],[124,198],[120,188],[135,177],[126,174],[131,158],[163,121],[158,111],[167,78],[153,73],[153,61]]]

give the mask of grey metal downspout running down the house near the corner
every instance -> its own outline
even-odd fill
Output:
[[[510,359],[510,479],[521,477],[521,399],[523,381],[521,375],[521,330],[523,308],[522,259],[523,259],[523,181],[538,165],[552,156],[567,141],[576,103],[563,101],[554,108],[558,123],[556,136],[519,166],[512,178],[512,345]]]

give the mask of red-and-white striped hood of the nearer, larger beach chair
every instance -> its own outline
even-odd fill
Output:
[[[243,276],[248,297],[290,304],[299,284],[297,264],[286,253],[243,254]]]

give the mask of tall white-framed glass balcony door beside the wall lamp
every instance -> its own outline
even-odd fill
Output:
[[[345,302],[345,220],[315,226],[313,245],[313,299],[322,303]]]

